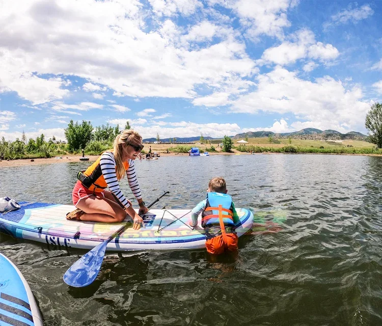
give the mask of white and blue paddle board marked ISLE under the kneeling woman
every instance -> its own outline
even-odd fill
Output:
[[[55,249],[92,249],[121,228],[123,223],[98,223],[66,220],[74,209],[72,205],[20,203],[16,211],[0,215],[0,231],[14,237],[39,241]],[[245,208],[236,208],[239,215],[236,233],[248,232],[253,214]],[[145,228],[128,227],[107,244],[108,251],[200,249],[205,247],[202,228],[192,229],[190,209],[150,209],[143,217]]]

